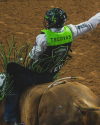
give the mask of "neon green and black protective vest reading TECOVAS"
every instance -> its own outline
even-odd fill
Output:
[[[47,38],[47,49],[39,57],[33,69],[37,72],[58,73],[63,66],[72,43],[72,32],[64,26],[64,31],[57,33],[50,30],[41,30]]]

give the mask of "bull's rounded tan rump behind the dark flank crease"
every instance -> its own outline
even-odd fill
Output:
[[[88,87],[77,82],[54,86],[41,97],[39,125],[94,125],[96,120],[89,121],[90,114],[82,112],[79,106],[97,107],[99,102]],[[95,113],[92,112],[92,117]]]

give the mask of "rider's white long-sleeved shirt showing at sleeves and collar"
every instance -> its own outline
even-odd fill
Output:
[[[97,13],[95,16],[90,18],[88,21],[80,23],[78,25],[69,24],[67,25],[73,35],[73,40],[85,33],[88,33],[95,29],[97,25],[100,24],[100,12]],[[51,28],[52,32],[62,32],[63,28]],[[45,34],[39,34],[36,37],[36,43],[33,46],[31,52],[29,53],[29,57],[33,60],[38,60],[39,56],[43,54],[43,52],[47,49],[47,38]]]

